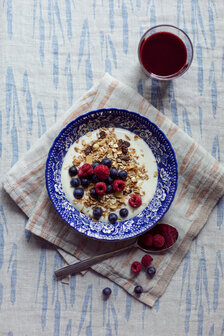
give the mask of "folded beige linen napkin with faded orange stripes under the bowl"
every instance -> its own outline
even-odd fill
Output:
[[[145,254],[138,248],[131,248],[92,267],[134,297],[134,287],[141,285],[144,292],[136,299],[152,307],[224,194],[224,168],[147,100],[105,74],[15,164],[5,178],[4,188],[28,216],[26,229],[54,244],[67,263],[123,245],[93,241],[71,229],[54,210],[45,187],[45,162],[57,134],[80,114],[104,107],[124,108],[148,117],[169,138],[177,157],[178,189],[162,222],[174,225],[180,232],[180,239],[169,252],[153,255],[156,275],[150,279],[144,271],[137,276],[131,274],[131,263],[140,261]]]

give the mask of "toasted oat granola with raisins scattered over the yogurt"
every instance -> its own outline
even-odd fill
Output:
[[[91,132],[86,134],[91,137]],[[112,211],[118,210],[127,205],[128,199],[135,194],[144,196],[142,190],[143,180],[148,180],[145,165],[139,164],[139,156],[135,148],[130,144],[130,138],[125,135],[126,140],[118,139],[115,129],[101,128],[97,133],[97,139],[87,143],[85,140],[77,140],[75,142],[73,157],[73,165],[79,168],[83,163],[90,165],[95,162],[101,162],[104,158],[109,158],[112,161],[112,167],[118,171],[126,170],[128,177],[126,186],[122,192],[114,192],[112,194],[103,194],[100,198],[93,199],[90,196],[89,190],[94,187],[91,183],[82,199],[74,199],[73,203],[83,203],[84,208],[100,207],[103,211],[103,217],[108,216]],[[138,136],[135,135],[134,140],[137,141]],[[143,154],[141,154],[143,156]]]

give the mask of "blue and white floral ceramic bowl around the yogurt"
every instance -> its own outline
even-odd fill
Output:
[[[95,222],[67,200],[61,183],[63,159],[70,146],[84,134],[100,127],[119,127],[140,136],[152,150],[158,168],[156,192],[137,216],[116,224]],[[88,112],[70,122],[55,139],[46,162],[46,186],[53,206],[78,232],[96,239],[115,241],[136,237],[149,230],[169,209],[177,189],[178,171],[174,150],[165,134],[149,119],[122,109]]]

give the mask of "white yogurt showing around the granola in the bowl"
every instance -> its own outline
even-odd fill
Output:
[[[63,161],[63,165],[62,165],[62,171],[61,171],[61,182],[62,182],[62,187],[64,190],[64,193],[66,195],[66,198],[73,204],[74,201],[74,196],[73,196],[73,191],[74,188],[70,186],[70,179],[71,177],[68,174],[68,169],[69,167],[71,167],[73,164],[73,158],[75,155],[77,155],[77,153],[74,150],[74,147],[80,147],[82,141],[84,140],[87,144],[92,143],[94,140],[98,139],[98,133],[99,131],[93,131],[91,133],[91,136],[87,136],[84,135],[79,139],[78,144],[74,144],[72,145],[65,158]],[[134,148],[136,151],[136,155],[139,156],[138,158],[138,163],[140,166],[145,165],[145,169],[147,171],[148,174],[148,179],[147,180],[139,180],[138,183],[141,184],[141,190],[144,192],[144,195],[141,196],[142,198],[142,205],[138,208],[133,209],[129,204],[128,204],[128,199],[130,198],[130,196],[127,195],[127,202],[125,206],[122,207],[126,207],[129,211],[129,215],[128,217],[125,218],[129,219],[131,217],[136,216],[138,213],[140,213],[152,200],[153,195],[156,191],[156,186],[157,186],[157,175],[158,175],[158,171],[157,171],[157,164],[156,164],[156,159],[151,151],[151,149],[149,148],[149,146],[146,144],[146,142],[141,139],[140,137],[138,137],[136,139],[136,136],[134,133],[122,129],[122,128],[115,128],[114,129],[114,133],[117,136],[117,139],[122,139],[122,140],[126,140],[127,141],[127,137],[130,139],[128,140],[130,143],[130,147],[129,148]],[[85,163],[85,162],[83,162]],[[83,164],[82,163],[82,164]],[[77,208],[78,210],[81,210],[83,208],[83,204],[82,203],[77,203],[74,204],[75,208]],[[119,210],[117,209],[115,211],[111,211],[111,212],[115,212],[118,217],[119,217]],[[84,209],[82,209],[82,212],[85,213],[86,215],[92,215],[92,211],[93,209],[91,207],[85,207]],[[120,218],[121,219],[121,218]],[[102,216],[100,218],[101,221],[104,222],[108,222],[107,217]],[[124,220],[124,219],[123,219]]]

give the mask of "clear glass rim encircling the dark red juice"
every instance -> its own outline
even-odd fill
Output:
[[[176,31],[179,31],[180,33],[182,33],[188,40],[189,42],[189,45],[190,45],[190,49],[191,49],[191,58],[189,60],[189,62],[187,63],[187,65],[184,65],[180,70],[178,70],[177,72],[171,74],[171,75],[167,75],[167,76],[161,76],[161,75],[157,75],[153,72],[149,72],[148,70],[146,70],[146,68],[144,67],[143,63],[142,63],[142,60],[141,60],[141,57],[140,57],[140,48],[141,48],[141,45],[142,45],[142,42],[145,38],[145,36],[151,32],[152,30],[156,29],[156,28],[171,28],[171,29],[174,29]],[[156,33],[155,33],[156,34]],[[182,39],[181,39],[182,40]],[[186,44],[185,42],[182,40],[182,42],[184,43],[185,47],[186,47]],[[187,33],[185,33],[185,31],[177,26],[174,26],[174,25],[170,25],[170,24],[160,24],[160,25],[156,25],[156,26],[153,26],[151,28],[149,28],[148,30],[146,30],[144,32],[144,34],[142,35],[142,37],[140,38],[140,41],[139,41],[139,44],[138,44],[138,59],[139,59],[139,63],[143,69],[143,71],[145,72],[145,74],[150,77],[150,78],[153,78],[153,79],[158,79],[158,80],[170,80],[170,79],[175,79],[177,77],[180,77],[182,76],[190,67],[192,61],[193,61],[193,57],[194,57],[194,48],[193,48],[193,43],[190,39],[190,37],[188,36]]]

